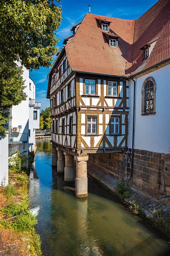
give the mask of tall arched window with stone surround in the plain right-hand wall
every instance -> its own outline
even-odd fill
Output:
[[[156,84],[152,77],[142,85],[142,115],[155,114]]]

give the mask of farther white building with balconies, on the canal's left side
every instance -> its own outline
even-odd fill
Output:
[[[39,112],[41,108],[40,102],[36,100],[36,85],[34,81],[29,78],[29,150],[35,148],[36,145],[36,129],[39,129]]]

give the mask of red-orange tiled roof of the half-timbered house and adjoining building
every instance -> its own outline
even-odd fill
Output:
[[[86,14],[72,40],[64,46],[72,70],[130,76],[170,58],[169,3],[159,0],[137,20]],[[109,46],[99,20],[110,22],[110,32],[118,36],[118,47]],[[156,44],[143,62],[140,48],[154,39]]]

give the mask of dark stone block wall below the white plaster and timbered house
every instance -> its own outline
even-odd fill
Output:
[[[126,153],[89,154],[89,162],[114,178],[127,181],[131,174],[131,152],[132,149]],[[157,199],[170,194],[170,154],[134,149],[130,184]],[[166,201],[169,202],[170,198]]]

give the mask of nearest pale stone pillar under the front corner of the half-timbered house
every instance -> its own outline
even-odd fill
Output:
[[[88,196],[88,177],[87,177],[87,161],[89,156],[78,157],[76,160],[76,198],[85,198]]]

